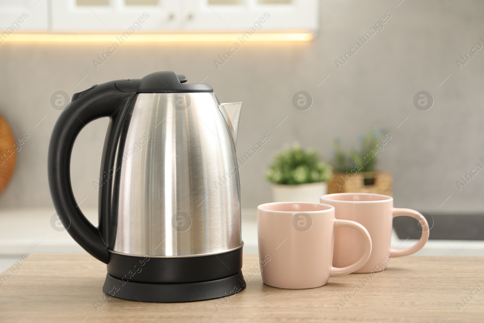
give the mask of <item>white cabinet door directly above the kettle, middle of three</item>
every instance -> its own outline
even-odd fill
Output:
[[[53,31],[150,33],[180,28],[177,0],[51,1]]]

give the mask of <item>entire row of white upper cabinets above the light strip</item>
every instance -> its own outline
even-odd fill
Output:
[[[318,29],[318,6],[318,0],[0,0],[0,26],[17,28],[24,13],[16,32],[307,32]]]

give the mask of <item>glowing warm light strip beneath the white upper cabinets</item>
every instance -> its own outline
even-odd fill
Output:
[[[268,42],[268,41],[309,41],[311,33],[204,33],[204,34],[27,34],[12,33],[0,35],[3,42]]]

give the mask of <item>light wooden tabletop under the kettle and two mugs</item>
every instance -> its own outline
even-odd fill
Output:
[[[257,256],[244,255],[244,291],[172,304],[107,296],[101,303],[105,264],[83,254],[28,257],[0,282],[0,322],[484,322],[483,257],[394,258],[365,280],[350,274],[320,288],[284,290],[264,285]]]

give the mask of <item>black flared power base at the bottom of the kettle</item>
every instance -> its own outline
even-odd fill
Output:
[[[171,284],[126,281],[106,274],[103,292],[136,302],[179,303],[229,296],[242,291],[245,286],[242,271],[220,279]]]

